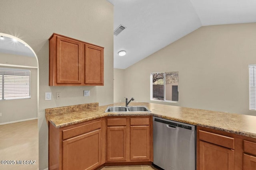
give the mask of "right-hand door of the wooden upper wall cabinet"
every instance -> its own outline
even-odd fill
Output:
[[[104,84],[104,49],[85,44],[85,84]]]

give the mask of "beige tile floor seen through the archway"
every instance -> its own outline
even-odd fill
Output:
[[[38,170],[38,120],[0,125],[0,170]],[[35,160],[35,164],[17,164],[17,160]]]

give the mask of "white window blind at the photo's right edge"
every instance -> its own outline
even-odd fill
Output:
[[[256,64],[249,65],[250,110],[256,110]]]

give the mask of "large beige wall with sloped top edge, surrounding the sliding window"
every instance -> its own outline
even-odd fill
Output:
[[[256,23],[200,27],[124,71],[125,95],[150,101],[150,73],[179,71],[183,107],[249,111],[248,64],[256,63]],[[157,43],[157,42],[156,42]]]

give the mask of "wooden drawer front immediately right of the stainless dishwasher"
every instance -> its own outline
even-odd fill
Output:
[[[234,138],[199,130],[199,139],[222,147],[234,149]]]

